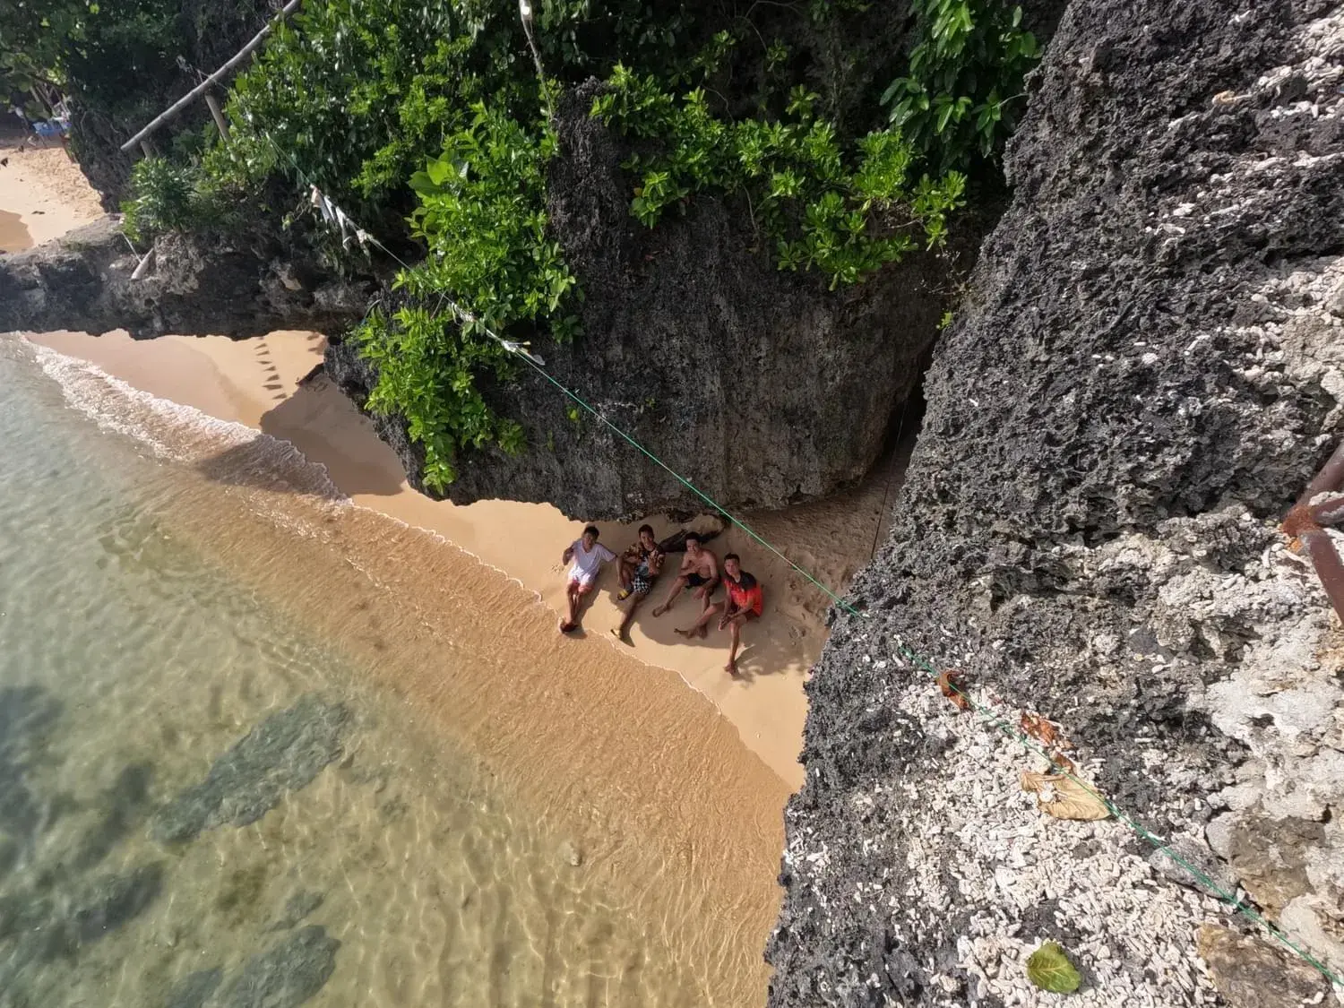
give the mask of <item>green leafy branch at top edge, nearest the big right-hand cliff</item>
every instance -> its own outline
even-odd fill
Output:
[[[1012,133],[1013,102],[1040,51],[1021,27],[1020,7],[999,0],[913,0],[913,7],[918,43],[910,69],[882,103],[931,164],[966,168]]]

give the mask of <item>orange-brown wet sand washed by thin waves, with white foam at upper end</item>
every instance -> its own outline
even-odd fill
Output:
[[[480,759],[640,907],[706,1003],[761,1004],[790,788],[708,698],[624,649],[560,637],[536,593],[352,504],[289,442],[35,349],[66,406],[149,462],[138,507],[165,538]]]

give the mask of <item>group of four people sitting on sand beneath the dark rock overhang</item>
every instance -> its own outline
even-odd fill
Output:
[[[653,536],[652,527],[640,526],[638,536],[630,544],[630,548],[621,554],[620,563],[617,564],[621,591],[617,594],[616,601],[628,602],[628,605],[621,616],[621,625],[613,629],[612,633],[626,644],[630,642],[628,633],[630,622],[634,620],[634,612],[648,597],[649,591],[653,590],[653,582],[663,571],[663,563],[667,559],[667,552]],[[601,566],[618,559],[614,552],[601,546],[597,539],[597,527],[589,526],[583,530],[583,536],[571,543],[563,554],[563,560],[570,564],[570,570],[569,585],[566,587],[569,618],[560,620],[562,633],[578,629],[583,601],[597,585]],[[720,581],[726,586],[727,598],[722,602],[715,602],[714,593],[718,590]],[[765,609],[761,582],[742,570],[742,560],[735,552],[730,552],[723,558],[723,570],[720,573],[719,558],[712,550],[704,547],[704,540],[699,534],[688,532],[685,535],[685,556],[677,569],[676,581],[668,589],[663,605],[655,607],[653,616],[659,617],[668,612],[676,603],[677,595],[681,591],[692,593],[691,597],[700,603],[700,616],[684,630],[677,629],[677,633],[688,640],[692,637],[703,638],[707,634],[710,621],[715,616],[722,614],[719,617],[719,629],[730,630],[731,633],[728,664],[723,669],[728,675],[737,675],[742,625],[758,618]]]

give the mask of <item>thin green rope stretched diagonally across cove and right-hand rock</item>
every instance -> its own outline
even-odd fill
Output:
[[[270,145],[276,149],[276,152],[278,155],[282,155],[282,156],[285,156],[289,160],[289,163],[294,167],[296,173],[304,181],[304,184],[306,184],[306,185],[313,185],[314,184],[314,183],[309,181],[308,173],[304,172],[304,169],[298,165],[298,163],[294,160],[294,157],[293,157],[292,153],[289,153],[288,151],[282,151],[281,146],[270,137],[269,133],[265,133],[263,130],[259,130],[259,132],[261,132],[261,136],[266,137],[267,142],[270,142]],[[402,267],[410,269],[402,261],[402,258],[399,255],[396,255],[391,249],[388,249],[386,245],[383,245],[380,241],[378,241],[378,238],[370,235],[370,239],[372,241],[374,245],[376,245],[379,249],[382,249],[387,255],[390,255],[392,259],[395,259]],[[473,317],[470,312],[466,312],[464,308],[461,308],[461,305],[458,305],[456,301],[453,301],[452,298],[449,298],[446,296],[446,292],[439,298],[439,306],[442,306],[445,302],[452,306],[452,309],[453,309],[453,312],[456,314],[458,314],[461,317],[465,317],[465,319],[472,319]],[[517,347],[517,344],[513,344],[513,343],[511,343],[508,340],[501,339],[500,336],[497,336],[496,333],[491,332],[489,329],[485,329],[485,335],[489,336],[491,339],[493,339],[500,345],[505,347],[505,349],[508,349],[515,356],[519,356],[521,360],[524,360],[542,378],[544,378],[547,382],[550,382],[556,388],[559,388],[560,392],[563,392],[566,396],[569,396],[570,399],[573,399],[579,407],[582,407],[589,414],[591,414],[598,422],[601,422],[603,426],[606,426],[607,429],[610,429],[622,441],[625,441],[628,445],[630,445],[633,449],[636,449],[640,454],[642,454],[650,462],[653,462],[655,465],[657,465],[659,468],[661,468],[663,470],[665,470],[667,473],[669,473],[677,482],[680,482],[683,487],[685,487],[688,491],[691,491],[696,497],[699,497],[702,501],[704,501],[711,508],[714,508],[718,513],[720,513],[724,517],[727,517],[732,524],[735,524],[738,528],[741,528],[743,532],[746,532],[747,536],[750,536],[755,543],[758,543],[759,546],[765,547],[769,552],[774,554],[781,560],[784,560],[794,573],[801,574],[808,582],[810,582],[813,585],[813,587],[818,589],[837,607],[843,609],[849,616],[857,617],[859,620],[867,620],[867,618],[870,618],[867,613],[856,609],[853,605],[851,605],[844,598],[841,598],[835,591],[832,591],[827,585],[824,585],[820,581],[817,581],[817,578],[814,578],[810,571],[805,570],[804,567],[798,566],[797,563],[794,563],[793,560],[790,560],[788,556],[785,556],[784,552],[781,552],[773,543],[770,543],[767,539],[765,539],[762,535],[759,535],[746,521],[743,521],[742,519],[739,519],[737,515],[734,515],[732,512],[730,512],[727,508],[722,507],[710,495],[704,493],[699,487],[696,487],[688,478],[685,478],[684,476],[681,476],[681,473],[679,473],[671,465],[668,465],[661,458],[659,458],[656,454],[653,454],[652,452],[649,452],[644,445],[641,445],[638,441],[636,441],[630,434],[628,434],[625,430],[622,430],[616,423],[613,423],[612,421],[609,421],[598,409],[595,409],[594,406],[591,406],[587,401],[585,401],[577,392],[574,392],[573,390],[570,390],[569,387],[566,387],[563,383],[560,383],[559,380],[556,380],[528,352],[526,352],[520,347]],[[911,650],[910,648],[907,648],[899,640],[896,641],[896,650],[898,650],[898,653],[900,655],[900,657],[905,661],[910,663],[911,665],[914,665],[915,668],[918,668],[919,671],[922,671],[925,675],[927,675],[930,679],[933,679],[935,681],[935,684],[938,684],[937,683],[937,680],[939,677],[938,676],[938,671],[925,657],[922,657],[921,655],[918,655],[914,650]],[[941,684],[938,684],[938,685],[941,688]],[[1298,946],[1284,931],[1281,931],[1278,927],[1275,927],[1269,921],[1266,921],[1262,914],[1259,914],[1257,910],[1249,907],[1245,902],[1242,902],[1241,899],[1238,899],[1234,894],[1228,892],[1222,886],[1219,886],[1207,874],[1204,874],[1198,867],[1195,867],[1193,864],[1191,864],[1188,860],[1185,860],[1184,857],[1181,857],[1181,855],[1179,855],[1176,851],[1172,849],[1171,844],[1168,844],[1165,840],[1163,840],[1161,837],[1159,837],[1157,835],[1154,835],[1152,831],[1149,831],[1141,823],[1134,821],[1130,816],[1128,816],[1125,812],[1122,812],[1120,808],[1117,808],[1114,802],[1111,802],[1105,796],[1097,793],[1097,790],[1090,784],[1087,784],[1086,781],[1081,780],[1077,774],[1074,774],[1074,773],[1071,773],[1068,770],[1064,770],[1064,769],[1056,766],[1055,762],[1054,762],[1054,757],[1051,757],[1051,754],[1043,746],[1035,743],[1031,738],[1028,738],[1028,735],[1025,732],[1020,731],[1019,728],[1016,728],[1012,724],[1009,724],[1008,722],[1005,722],[1003,718],[1000,718],[997,714],[995,714],[993,711],[991,711],[988,707],[984,707],[982,704],[977,703],[973,696],[970,696],[969,694],[966,694],[956,683],[950,683],[949,681],[948,683],[948,688],[950,688],[957,696],[965,699],[966,703],[974,710],[974,712],[980,716],[980,719],[982,722],[988,722],[991,726],[999,728],[999,731],[1001,731],[1007,738],[1017,742],[1028,753],[1034,753],[1035,755],[1039,755],[1043,759],[1046,759],[1047,763],[1050,763],[1051,767],[1054,767],[1054,770],[1056,770],[1060,775],[1068,778],[1070,781],[1073,781],[1074,784],[1077,784],[1079,788],[1082,788],[1089,796],[1091,796],[1093,798],[1095,798],[1111,816],[1114,816],[1114,818],[1116,818],[1117,823],[1121,823],[1125,827],[1128,827],[1130,831],[1134,832],[1134,835],[1137,835],[1144,841],[1146,841],[1148,844],[1150,844],[1159,853],[1167,856],[1175,864],[1177,864],[1181,868],[1184,868],[1189,874],[1189,876],[1192,879],[1195,879],[1195,882],[1200,883],[1200,886],[1207,892],[1211,892],[1212,895],[1218,896],[1218,899],[1220,899],[1227,906],[1227,909],[1231,913],[1241,914],[1242,917],[1245,917],[1247,921],[1250,921],[1257,927],[1267,931],[1281,945],[1284,945],[1292,953],[1297,954],[1302,961],[1305,961],[1312,968],[1314,968],[1321,976],[1325,977],[1325,980],[1328,982],[1331,982],[1332,985],[1344,988],[1344,977],[1340,977],[1339,974],[1336,974],[1335,972],[1332,972],[1328,966],[1325,966],[1322,962],[1320,962],[1318,960],[1316,960],[1310,953],[1305,952],[1301,946]]]

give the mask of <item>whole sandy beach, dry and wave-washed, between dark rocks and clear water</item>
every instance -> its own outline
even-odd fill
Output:
[[[0,206],[28,227],[35,190],[16,177],[0,175]],[[91,212],[66,207],[66,226]],[[688,598],[660,620],[646,605],[633,646],[617,642],[614,570],[583,632],[560,637],[559,552],[582,523],[544,505],[456,507],[411,491],[367,418],[314,374],[320,333],[20,339],[67,405],[163,470],[173,504],[159,520],[175,536],[478,758],[585,872],[641,907],[707,1003],[761,1001],[824,594],[730,531],[711,547],[741,552],[767,591],[737,679],[723,672],[726,640],[673,633],[694,620]],[[849,497],[747,521],[839,587],[878,536],[890,472],[880,476]],[[660,536],[675,528],[650,523]],[[616,550],[634,538],[633,526],[599,524]]]

